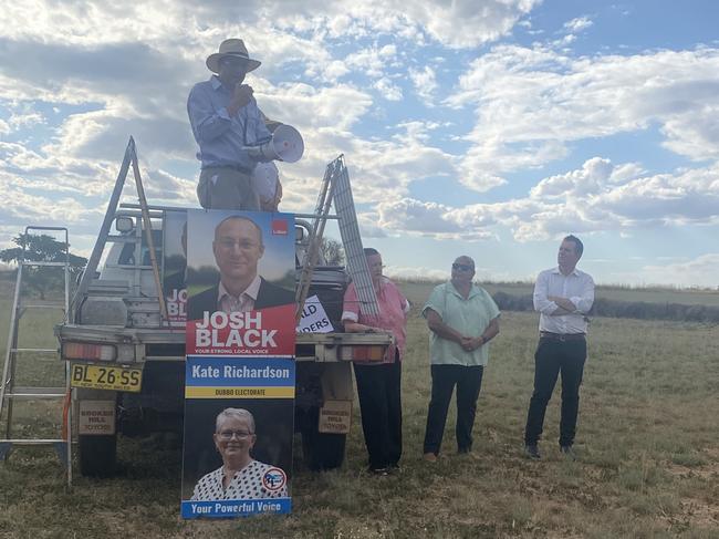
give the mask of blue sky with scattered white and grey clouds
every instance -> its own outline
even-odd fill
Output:
[[[713,0],[8,3],[0,248],[66,226],[87,256],[131,135],[149,203],[199,207],[187,95],[241,38],[260,108],[304,138],[281,210],[312,211],[344,154],[387,274],[468,255],[532,280],[574,234],[597,283],[716,288],[717,20]]]

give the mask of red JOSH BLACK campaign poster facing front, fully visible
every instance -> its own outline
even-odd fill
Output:
[[[294,216],[187,213],[188,355],[294,355]]]

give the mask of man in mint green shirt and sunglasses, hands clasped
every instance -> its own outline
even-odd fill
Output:
[[[431,400],[425,431],[425,460],[439,455],[447,411],[457,386],[458,453],[472,448],[477,398],[489,360],[487,343],[499,333],[499,309],[491,296],[472,283],[475,261],[459,257],[451,280],[436,287],[423,308],[429,326]]]

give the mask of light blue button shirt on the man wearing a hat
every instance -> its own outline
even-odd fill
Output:
[[[230,117],[227,106],[231,96],[230,90],[212,75],[209,81],[197,83],[187,99],[187,114],[200,146],[197,158],[202,162],[202,168],[231,166],[252,169],[257,160],[242,147],[262,144],[272,136],[254,97]]]

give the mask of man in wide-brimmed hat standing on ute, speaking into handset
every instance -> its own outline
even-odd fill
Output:
[[[206,64],[216,73],[197,83],[187,100],[192,134],[200,147],[201,162],[197,197],[207,209],[258,211],[260,200],[252,189],[257,160],[244,149],[271,138],[264,115],[252,96],[244,75],[260,66],[250,59],[240,39],[222,41],[219,52]]]

